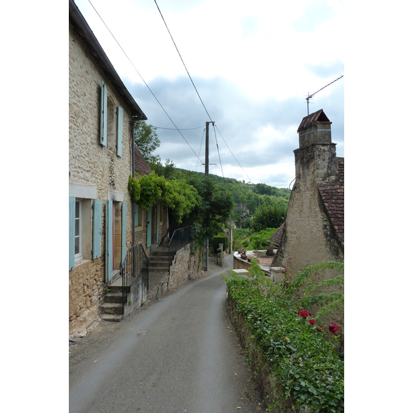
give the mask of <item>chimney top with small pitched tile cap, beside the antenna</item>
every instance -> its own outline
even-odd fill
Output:
[[[331,122],[323,109],[303,118],[297,132],[300,149],[314,143],[331,143]]]

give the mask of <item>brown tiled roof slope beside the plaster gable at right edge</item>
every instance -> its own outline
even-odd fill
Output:
[[[337,158],[340,184],[318,186],[321,200],[335,233],[344,248],[344,158]]]

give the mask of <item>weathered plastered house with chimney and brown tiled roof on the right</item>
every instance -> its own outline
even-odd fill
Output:
[[[331,142],[323,109],[301,120],[295,184],[272,266],[296,273],[326,260],[344,260],[344,158]]]

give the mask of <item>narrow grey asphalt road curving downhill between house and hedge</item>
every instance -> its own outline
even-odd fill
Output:
[[[225,268],[100,321],[70,346],[70,412],[260,412],[262,395],[226,313]]]

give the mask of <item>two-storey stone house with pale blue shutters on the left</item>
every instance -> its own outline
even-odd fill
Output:
[[[131,125],[146,120],[74,1],[69,1],[70,332],[98,321],[139,211],[127,190],[135,167]],[[142,226],[146,237],[146,226]]]

